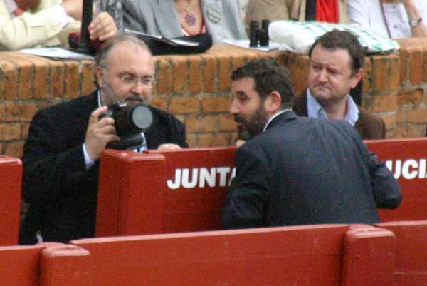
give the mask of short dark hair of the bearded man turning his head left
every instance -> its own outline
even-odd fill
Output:
[[[231,74],[232,81],[241,78],[253,78],[255,91],[260,98],[265,99],[268,94],[277,91],[282,98],[281,108],[292,107],[295,91],[289,79],[289,71],[277,61],[270,58],[250,61]]]

